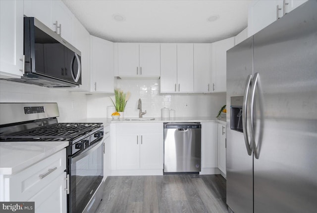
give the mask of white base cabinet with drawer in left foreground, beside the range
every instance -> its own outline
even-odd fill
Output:
[[[16,174],[3,175],[1,201],[35,202],[36,213],[66,213],[68,186],[64,170],[66,149]]]

